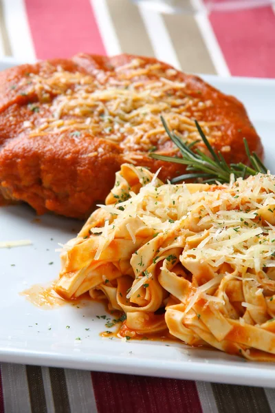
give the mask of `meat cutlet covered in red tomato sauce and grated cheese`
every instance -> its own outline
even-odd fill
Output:
[[[21,65],[0,74],[0,191],[5,199],[86,218],[113,187],[124,162],[159,178],[184,165],[150,158],[179,155],[160,115],[182,140],[199,139],[230,162],[247,162],[243,136],[263,156],[243,105],[197,76],[145,57],[78,54]],[[206,150],[202,143],[197,147]]]

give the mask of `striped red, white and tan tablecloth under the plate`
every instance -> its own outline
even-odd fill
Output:
[[[0,56],[156,56],[188,72],[275,77],[275,11],[161,15],[129,0],[0,0]],[[261,385],[261,383],[259,383]],[[275,383],[274,383],[275,386]],[[2,363],[0,412],[275,412],[275,391]]]

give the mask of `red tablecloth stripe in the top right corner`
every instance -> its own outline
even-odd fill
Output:
[[[271,7],[212,12],[209,18],[232,75],[275,77],[275,14]]]

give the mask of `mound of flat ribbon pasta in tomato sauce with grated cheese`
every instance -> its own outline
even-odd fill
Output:
[[[120,336],[275,361],[275,176],[172,185],[124,164],[61,264],[56,292],[107,299]]]

